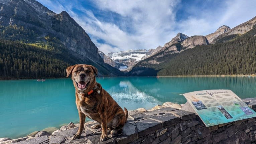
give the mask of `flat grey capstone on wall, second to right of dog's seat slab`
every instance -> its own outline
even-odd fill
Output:
[[[163,123],[163,127],[170,126],[171,124],[176,124],[179,122],[179,118],[173,115],[154,116],[150,119]]]

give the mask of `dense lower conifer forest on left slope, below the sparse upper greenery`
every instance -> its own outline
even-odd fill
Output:
[[[92,64],[102,75],[109,75],[97,63],[71,54],[56,38],[45,39],[44,43],[0,39],[0,79],[63,78],[68,66],[80,63]]]

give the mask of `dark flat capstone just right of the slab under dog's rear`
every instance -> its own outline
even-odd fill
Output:
[[[144,119],[135,123],[138,129],[138,137],[145,136],[162,128],[162,123],[151,119]]]

